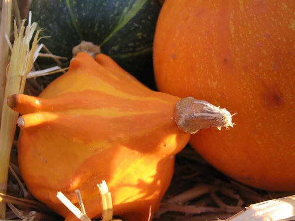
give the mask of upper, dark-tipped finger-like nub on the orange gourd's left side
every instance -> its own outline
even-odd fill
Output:
[[[41,100],[25,94],[13,94],[7,97],[7,105],[21,114],[37,112],[41,109]]]

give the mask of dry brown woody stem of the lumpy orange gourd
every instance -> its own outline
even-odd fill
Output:
[[[221,127],[234,127],[232,116],[235,114],[207,101],[186,97],[177,102],[174,120],[180,130],[195,134],[203,128],[217,127],[221,130]]]

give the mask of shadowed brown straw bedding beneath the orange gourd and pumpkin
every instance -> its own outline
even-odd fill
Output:
[[[42,82],[46,81],[42,79]],[[15,141],[11,152],[8,192],[0,195],[7,202],[7,220],[62,221],[61,217],[33,199],[26,190],[17,166],[16,144]],[[175,176],[154,221],[226,220],[236,214],[241,215],[240,212],[245,211],[245,206],[250,204],[292,194],[295,193],[266,192],[241,185],[218,172],[187,146],[176,157]],[[287,199],[295,205],[295,197]],[[278,215],[286,214],[284,206],[277,211]],[[277,210],[277,207],[271,208]],[[262,207],[262,212],[267,214],[269,211]],[[247,215],[247,218],[250,216]],[[238,219],[238,216],[233,218],[233,221],[243,220],[247,219]],[[267,217],[259,216],[252,220],[270,221]]]

